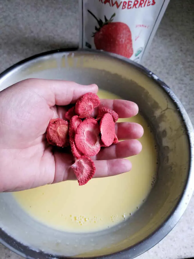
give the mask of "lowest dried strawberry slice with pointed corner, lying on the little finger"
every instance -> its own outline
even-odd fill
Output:
[[[95,174],[96,168],[91,158],[81,156],[78,158],[71,168],[78,179],[79,185],[86,184]]]

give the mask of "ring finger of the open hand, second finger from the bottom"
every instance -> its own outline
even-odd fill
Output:
[[[109,160],[116,158],[126,158],[135,156],[142,151],[142,144],[136,140],[124,140],[118,144],[111,145],[106,148],[101,148],[100,152],[96,155],[96,160]]]

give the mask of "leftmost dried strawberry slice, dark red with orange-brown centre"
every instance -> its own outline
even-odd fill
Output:
[[[69,123],[63,119],[51,119],[47,127],[47,140],[49,144],[64,147],[68,146]]]

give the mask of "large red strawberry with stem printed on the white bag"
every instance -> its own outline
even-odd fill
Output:
[[[96,19],[99,26],[95,26],[96,32],[92,35],[96,49],[130,58],[133,55],[133,46],[132,35],[128,25],[121,22],[113,22],[115,13],[109,20],[104,16],[105,21],[103,22],[101,19],[98,20],[89,10],[88,12]]]

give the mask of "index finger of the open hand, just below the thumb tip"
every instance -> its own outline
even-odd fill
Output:
[[[138,114],[138,105],[126,100],[101,99],[100,107],[107,107],[118,113],[119,118],[130,118]]]

